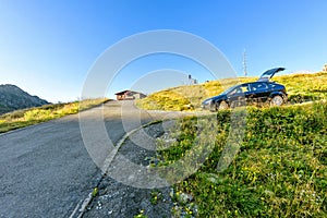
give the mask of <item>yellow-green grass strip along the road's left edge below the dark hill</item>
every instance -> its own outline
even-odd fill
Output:
[[[46,105],[41,107],[16,110],[0,116],[0,133],[77,113],[108,101],[108,99],[87,99],[69,104]]]

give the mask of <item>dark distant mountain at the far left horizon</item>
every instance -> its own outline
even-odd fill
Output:
[[[0,114],[48,104],[47,100],[31,96],[15,85],[0,85]]]

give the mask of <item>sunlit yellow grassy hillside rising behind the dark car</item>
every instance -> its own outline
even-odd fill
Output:
[[[201,102],[223,92],[227,87],[244,82],[256,81],[257,77],[240,77],[239,80],[220,80],[199,85],[179,86],[165,89],[137,101],[137,106],[149,110],[193,110]],[[283,84],[291,102],[327,98],[327,73],[291,74],[275,76],[272,81]]]

